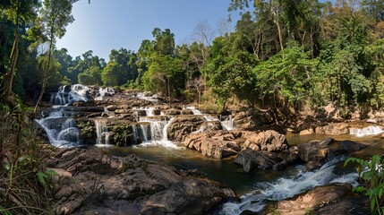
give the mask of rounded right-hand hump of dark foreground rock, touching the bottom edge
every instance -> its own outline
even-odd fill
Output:
[[[189,179],[151,195],[141,214],[205,214],[210,207],[228,197],[235,197],[235,193],[218,188],[207,180]]]

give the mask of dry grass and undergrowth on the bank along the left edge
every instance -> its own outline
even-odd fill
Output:
[[[21,112],[0,110],[0,214],[52,214],[49,149]],[[47,153],[48,152],[48,153]]]

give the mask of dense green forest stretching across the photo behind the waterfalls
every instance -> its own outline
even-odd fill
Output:
[[[11,107],[13,92],[36,104],[44,91],[70,83],[199,104],[213,98],[223,108],[237,102],[295,112],[332,103],[347,116],[351,107],[384,105],[382,0],[232,0],[228,11],[242,13],[232,32],[201,22],[195,41],[176,45],[171,30],[155,28],[139,50],[114,49],[107,60],[55,48],[74,20],[74,2],[0,3],[1,98]]]

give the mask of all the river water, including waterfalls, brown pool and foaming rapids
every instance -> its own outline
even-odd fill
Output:
[[[82,88],[80,89],[82,90]],[[61,93],[61,94],[60,94]],[[67,102],[62,99],[64,88],[55,94],[53,99],[59,105]],[[101,93],[100,93],[101,94]],[[76,97],[81,98],[81,93],[69,95],[67,100]],[[144,159],[151,159],[158,163],[173,166],[179,169],[198,170],[203,176],[220,182],[232,188],[240,197],[240,202],[227,202],[215,214],[240,214],[243,211],[260,211],[269,201],[278,201],[291,197],[296,193],[301,193],[311,189],[316,185],[327,185],[331,182],[348,182],[356,185],[357,173],[353,169],[343,168],[343,160],[346,157],[337,158],[329,161],[322,168],[308,172],[304,165],[295,165],[282,171],[252,171],[245,173],[242,166],[236,165],[234,158],[229,159],[209,159],[196,150],[186,149],[181,142],[171,142],[166,138],[166,126],[172,122],[172,118],[166,121],[154,120],[150,113],[153,109],[145,109],[147,117],[141,119],[142,125],[134,130],[135,135],[140,135],[143,143],[131,147],[114,147],[108,145],[109,132],[106,130],[106,119],[95,119],[98,128],[98,139],[95,140],[99,146],[110,146],[108,150],[116,156],[126,156],[135,153]],[[201,115],[198,110],[192,109],[194,115]],[[152,117],[152,118],[150,118]],[[207,121],[218,120],[204,116]],[[79,144],[79,134],[73,125],[73,121],[68,116],[63,116],[60,111],[53,111],[38,121],[42,125],[50,142],[55,146],[76,146]],[[229,118],[222,121],[222,126],[226,130],[235,127],[234,121]],[[382,128],[380,128],[382,129]],[[373,154],[384,154],[383,140],[378,135],[378,127],[370,127],[365,130],[355,130],[354,134],[330,136],[319,133],[308,135],[287,134],[286,139],[290,145],[298,145],[312,140],[323,140],[332,137],[338,141],[351,140],[360,142],[371,147],[356,152],[354,156],[368,158]]]

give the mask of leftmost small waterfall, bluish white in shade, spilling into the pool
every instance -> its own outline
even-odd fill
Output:
[[[47,133],[49,142],[56,147],[81,146],[79,129],[72,118],[63,116],[63,110],[56,110],[45,118],[37,120]]]

